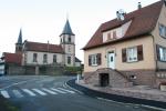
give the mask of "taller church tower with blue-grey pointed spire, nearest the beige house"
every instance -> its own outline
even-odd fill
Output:
[[[72,32],[69,20],[66,20],[62,33],[60,34],[60,43],[64,50],[64,63],[66,67],[75,65],[75,34]]]

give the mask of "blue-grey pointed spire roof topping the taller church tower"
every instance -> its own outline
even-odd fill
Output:
[[[61,36],[62,36],[62,34],[75,36],[75,34],[72,32],[72,29],[71,29],[71,26],[70,26],[69,20],[66,20],[66,22],[65,22],[65,26],[64,26],[64,28],[63,28],[63,31],[62,31]]]

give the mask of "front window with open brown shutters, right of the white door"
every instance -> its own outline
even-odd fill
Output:
[[[133,48],[122,49],[122,61],[123,62],[135,62],[142,61],[143,57],[143,46],[136,46]]]

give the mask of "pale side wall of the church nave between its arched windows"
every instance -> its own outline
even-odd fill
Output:
[[[34,51],[27,51],[27,63],[28,64],[37,64],[33,62],[33,53],[38,53],[38,64],[43,63],[43,54],[48,54],[48,64],[53,63],[53,56],[56,54],[58,63],[63,63],[63,54],[61,53],[46,53],[46,52],[34,52]]]

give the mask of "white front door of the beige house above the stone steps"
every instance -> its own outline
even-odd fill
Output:
[[[108,59],[108,68],[115,69],[115,53],[114,52],[108,53],[107,59]]]

